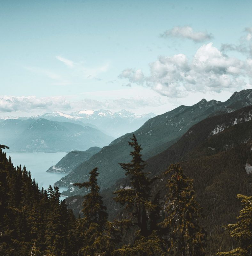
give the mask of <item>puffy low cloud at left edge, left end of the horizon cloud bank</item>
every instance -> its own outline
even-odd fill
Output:
[[[33,111],[34,109],[69,109],[70,102],[63,97],[37,98],[35,96],[0,96],[0,111]]]

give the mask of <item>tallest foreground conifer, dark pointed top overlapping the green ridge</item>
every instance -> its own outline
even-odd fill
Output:
[[[151,200],[151,184],[156,178],[150,179],[149,173],[144,172],[146,162],[142,159],[142,148],[134,134],[128,143],[133,148],[130,152],[132,160],[120,165],[125,175],[130,176],[130,188],[115,191],[114,200],[124,205],[129,214],[128,219],[120,220],[118,224],[138,230],[134,244],[122,246],[114,255],[161,255],[164,241],[158,236],[160,228],[156,225],[160,210],[158,195]]]

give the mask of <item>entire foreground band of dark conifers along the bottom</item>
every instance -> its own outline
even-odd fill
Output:
[[[145,171],[146,162],[134,135],[129,145],[131,161],[120,164],[129,183],[127,188],[113,193],[112,200],[120,208],[114,220],[110,220],[99,191],[98,168],[91,170],[88,181],[74,184],[87,189],[82,199],[82,214],[75,218],[65,202],[59,202],[59,188],[39,189],[25,166],[14,167],[11,158],[6,158],[2,150],[6,146],[2,145],[0,255],[251,255],[252,196],[237,195],[240,216],[237,215],[236,222],[223,228],[214,227],[231,230],[232,244],[227,241],[228,245],[222,247],[228,250],[221,252],[219,243],[213,237],[208,239],[206,223],[202,222],[204,212],[210,212],[211,218],[215,216],[211,209],[201,208],[194,180],[183,170],[194,168],[193,159],[170,164],[162,175],[151,176]],[[232,205],[223,202],[223,207],[228,207],[234,215]]]

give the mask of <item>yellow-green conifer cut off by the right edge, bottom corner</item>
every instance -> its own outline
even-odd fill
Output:
[[[224,228],[231,229],[230,236],[238,241],[238,247],[229,252],[217,253],[220,256],[252,255],[252,196],[238,194],[236,197],[241,200],[243,209],[240,210],[240,215],[236,217],[238,221],[224,226]]]

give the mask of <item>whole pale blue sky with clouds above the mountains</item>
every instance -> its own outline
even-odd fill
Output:
[[[158,115],[252,88],[252,1],[0,3],[0,117]]]

